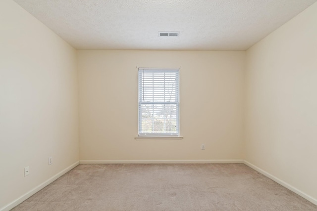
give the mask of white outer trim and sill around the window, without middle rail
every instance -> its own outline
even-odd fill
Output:
[[[167,140],[167,139],[175,139],[175,140],[179,140],[179,139],[183,139],[182,136],[180,136],[180,121],[179,121],[179,113],[180,113],[180,106],[179,106],[179,102],[180,102],[180,99],[179,99],[179,90],[180,90],[180,84],[179,84],[179,81],[180,81],[180,68],[142,68],[142,67],[137,67],[138,69],[138,136],[135,137],[136,140]],[[150,70],[150,71],[178,71],[178,93],[177,93],[177,99],[178,101],[176,102],[177,104],[177,107],[178,107],[178,112],[177,112],[177,125],[178,125],[178,133],[142,133],[140,134],[140,93],[139,93],[139,80],[140,80],[140,77],[139,77],[139,71],[144,71],[144,70]],[[173,103],[174,104],[174,103]]]

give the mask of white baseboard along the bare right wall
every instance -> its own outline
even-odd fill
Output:
[[[304,193],[304,192],[298,190],[297,188],[295,188],[294,186],[288,184],[287,182],[285,182],[285,181],[283,181],[283,180],[281,180],[281,179],[279,179],[279,178],[273,176],[272,174],[266,172],[266,171],[263,170],[263,169],[260,169],[259,167],[256,167],[255,165],[253,165],[253,164],[251,164],[251,163],[249,163],[249,162],[247,162],[247,161],[244,161],[243,163],[244,163],[245,165],[247,165],[248,167],[250,167],[250,168],[252,168],[252,169],[254,169],[254,170],[256,170],[256,171],[262,173],[263,175],[267,176],[268,178],[270,178],[271,180],[277,182],[278,184],[284,186],[285,188],[287,188],[287,189],[293,191],[294,193],[300,195],[301,197],[303,197],[304,199],[310,201],[311,203],[317,205],[317,199],[311,197],[310,195],[308,195],[308,194],[306,194],[306,193]]]

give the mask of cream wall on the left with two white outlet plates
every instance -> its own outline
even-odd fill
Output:
[[[79,160],[76,65],[74,48],[0,1],[0,210]]]

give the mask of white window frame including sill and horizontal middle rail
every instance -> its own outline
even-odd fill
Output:
[[[176,85],[176,90],[175,92],[177,93],[177,101],[176,102],[145,102],[145,103],[141,103],[140,102],[140,72],[142,71],[153,71],[153,72],[177,72],[177,85]],[[143,139],[143,138],[150,138],[152,140],[156,140],[156,139],[167,139],[167,138],[173,138],[173,139],[178,139],[178,138],[182,138],[180,136],[180,125],[179,125],[179,110],[180,110],[180,106],[179,106],[179,90],[180,90],[180,84],[179,84],[179,78],[180,78],[180,68],[138,68],[138,137],[135,137],[136,139]],[[140,112],[141,112],[141,108],[140,108],[140,104],[176,104],[176,133],[140,133],[141,129],[140,127],[142,124],[142,121],[140,120]]]

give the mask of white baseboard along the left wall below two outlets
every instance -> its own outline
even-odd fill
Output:
[[[32,190],[30,190],[29,192],[27,192],[26,194],[22,195],[21,197],[19,197],[18,199],[14,200],[13,202],[11,202],[10,204],[0,208],[0,211],[9,211],[12,208],[16,207],[17,205],[19,205],[20,203],[22,203],[24,200],[28,199],[29,197],[31,197],[33,194],[35,194],[36,192],[40,191],[41,189],[45,188],[47,185],[51,184],[54,180],[56,180],[57,178],[59,178],[60,176],[64,175],[65,173],[67,173],[69,170],[75,168],[76,166],[79,165],[79,161],[77,161],[76,163],[70,165],[69,167],[67,167],[66,169],[58,172],[57,174],[55,174],[54,176],[52,176],[51,178],[49,178],[48,180],[46,180],[45,182],[39,184],[38,186],[36,186],[35,188],[33,188]]]

